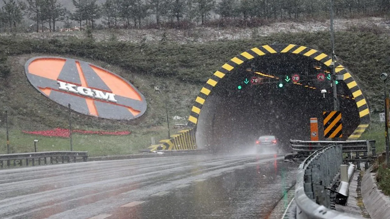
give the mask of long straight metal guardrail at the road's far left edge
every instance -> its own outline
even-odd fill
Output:
[[[73,158],[73,162],[77,161],[77,157],[81,157],[85,162],[88,158],[88,152],[86,151],[50,151],[50,152],[33,152],[33,153],[20,153],[20,154],[0,154],[0,168],[4,168],[4,166],[11,166],[11,161],[13,161],[13,166],[29,166],[30,160],[32,166],[35,166],[35,159],[38,161],[38,165],[41,165],[41,159],[43,159],[43,163],[46,165],[48,163],[48,159],[50,164],[53,162],[71,162],[71,158]],[[60,160],[60,161],[58,161]],[[4,164],[6,161],[6,164]],[[25,161],[25,162],[23,162]]]

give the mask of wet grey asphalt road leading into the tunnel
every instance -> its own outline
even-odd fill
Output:
[[[267,218],[297,169],[276,155],[194,155],[1,170],[0,218]]]

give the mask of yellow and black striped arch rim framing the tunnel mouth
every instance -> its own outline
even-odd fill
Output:
[[[216,84],[226,75],[229,74],[234,68],[239,65],[252,60],[253,58],[264,56],[264,55],[273,55],[280,53],[293,53],[306,57],[313,58],[319,62],[322,62],[324,65],[330,67],[332,64],[332,58],[326,55],[321,51],[316,49],[308,48],[306,46],[300,46],[295,44],[273,44],[273,45],[264,45],[249,49],[243,53],[240,53],[236,57],[230,59],[227,63],[222,65],[218,71],[216,71],[211,78],[209,78],[199,92],[199,95],[195,99],[195,103],[192,106],[190,116],[188,118],[189,126],[196,126],[199,118],[200,111],[204,102],[207,99],[207,96],[212,92]],[[360,90],[358,84],[353,79],[351,72],[349,72],[346,67],[341,65],[339,62],[335,62],[336,73],[343,75],[343,80],[346,83],[347,87],[351,91],[353,97],[355,98],[356,106],[359,110],[360,116],[360,125],[356,128],[355,132],[349,136],[348,139],[357,139],[365,131],[370,123],[370,111],[367,104],[367,101],[363,95],[362,90]],[[358,131],[358,132],[356,132]]]

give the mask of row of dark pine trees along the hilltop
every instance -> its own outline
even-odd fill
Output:
[[[80,28],[95,28],[101,19],[108,28],[141,27],[146,18],[153,18],[156,25],[170,21],[211,21],[211,14],[219,19],[299,19],[315,18],[329,12],[330,0],[72,0],[73,11],[68,11],[58,0],[3,0],[0,9],[0,28],[14,30],[27,16],[35,22],[35,30],[48,25],[56,31],[56,23],[63,21],[65,27],[71,21]],[[336,16],[372,16],[390,12],[389,0],[333,0]]]

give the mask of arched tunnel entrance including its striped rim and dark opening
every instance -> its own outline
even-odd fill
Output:
[[[293,44],[262,46],[232,58],[195,100],[189,121],[197,147],[250,150],[259,136],[275,135],[287,149],[290,139],[310,140],[313,117],[325,140],[323,111],[333,110],[330,63],[324,53]],[[343,76],[337,84],[340,140],[358,138],[369,123],[367,102],[351,73],[339,63],[336,69]]]

